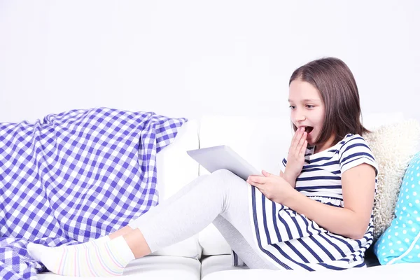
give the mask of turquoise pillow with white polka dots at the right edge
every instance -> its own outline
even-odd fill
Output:
[[[381,265],[420,262],[420,152],[405,171],[395,218],[373,250]]]

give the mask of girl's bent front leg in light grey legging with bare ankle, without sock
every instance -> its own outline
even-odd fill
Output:
[[[163,210],[163,209],[162,209]],[[248,216],[248,184],[228,170],[218,170],[200,181],[157,216],[144,216],[137,229],[124,235],[140,258],[203,230],[221,214],[246,240],[252,240]],[[246,226],[244,226],[246,225]]]

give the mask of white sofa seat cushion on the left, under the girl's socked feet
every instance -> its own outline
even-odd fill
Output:
[[[200,279],[200,261],[193,258],[146,256],[133,260],[124,270],[124,280],[198,280]],[[109,279],[103,277],[70,277],[56,274],[38,274],[39,280],[87,280]]]

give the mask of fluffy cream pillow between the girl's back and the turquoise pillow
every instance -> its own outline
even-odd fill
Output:
[[[363,137],[377,160],[379,175],[374,202],[374,240],[391,225],[405,169],[417,150],[420,124],[417,120],[382,125]]]

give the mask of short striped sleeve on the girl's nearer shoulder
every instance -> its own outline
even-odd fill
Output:
[[[378,165],[365,139],[356,134],[345,140],[346,142],[339,149],[340,172],[343,174],[352,167],[366,163],[374,167],[375,176],[377,176]]]

